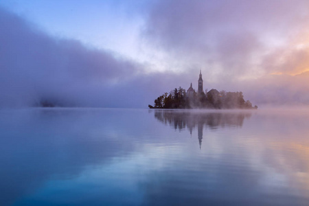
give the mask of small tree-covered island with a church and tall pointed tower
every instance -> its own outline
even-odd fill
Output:
[[[154,106],[148,105],[149,108],[246,108],[257,109],[258,106],[252,106],[249,100],[244,100],[242,92],[227,92],[211,89],[210,91],[203,91],[203,79],[202,71],[198,78],[198,91],[196,92],[192,88],[185,91],[185,89],[179,87],[170,91],[170,93],[163,93],[155,99]]]

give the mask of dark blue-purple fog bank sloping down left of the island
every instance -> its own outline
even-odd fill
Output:
[[[0,27],[0,106],[33,106],[41,100],[74,106],[141,106],[115,98],[131,98],[127,93],[137,86],[132,82],[142,67],[136,62],[48,36],[1,8]]]

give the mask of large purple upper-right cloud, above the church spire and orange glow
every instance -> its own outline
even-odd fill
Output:
[[[157,1],[144,36],[211,78],[267,73],[266,54],[308,34],[308,1]],[[278,56],[276,55],[275,58]]]

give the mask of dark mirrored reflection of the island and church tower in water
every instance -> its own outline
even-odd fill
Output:
[[[203,130],[209,128],[216,130],[218,128],[236,127],[241,128],[244,119],[250,118],[251,112],[205,112],[205,111],[172,111],[156,110],[155,118],[165,125],[169,125],[175,130],[189,130],[192,136],[192,130],[198,132],[198,143],[201,149]]]

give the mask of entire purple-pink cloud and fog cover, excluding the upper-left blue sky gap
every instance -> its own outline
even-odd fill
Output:
[[[205,89],[243,91],[258,106],[308,104],[303,28],[309,7],[306,1],[267,2],[148,5],[142,41],[169,55],[165,65],[180,62],[179,72],[150,72],[150,62],[49,36],[0,8],[0,106],[55,100],[63,106],[146,108],[175,87],[187,89],[192,82],[196,88],[201,68]]]

